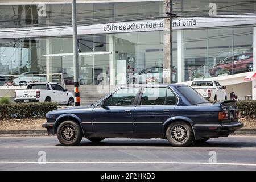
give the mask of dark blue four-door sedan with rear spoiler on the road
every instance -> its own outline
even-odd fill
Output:
[[[243,127],[236,101],[211,104],[181,84],[123,85],[95,104],[50,111],[46,120],[43,127],[65,146],[82,137],[92,142],[127,137],[163,138],[185,147]]]

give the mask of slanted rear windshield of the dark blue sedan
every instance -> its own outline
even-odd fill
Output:
[[[197,93],[190,86],[179,86],[177,88],[192,105],[208,102],[203,96]]]

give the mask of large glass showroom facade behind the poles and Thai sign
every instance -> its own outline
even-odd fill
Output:
[[[77,1],[79,26],[162,20],[163,1],[82,3]],[[200,3],[199,3],[200,2]],[[175,28],[173,31],[173,81],[184,82],[253,71],[254,24],[218,26],[217,15],[254,13],[251,1],[174,1],[177,19],[203,18],[210,26]],[[192,17],[192,18],[191,18]],[[70,3],[0,5],[2,32],[15,31],[15,38],[0,36],[0,75],[25,72],[63,73],[65,84],[73,84],[72,36],[30,36],[22,28],[72,26]],[[246,21],[244,18],[242,21]],[[209,21],[209,22],[208,22]],[[191,21],[192,22],[192,21]],[[188,22],[189,23],[189,22]],[[193,24],[193,22],[192,22]],[[177,24],[175,24],[177,26]],[[0,32],[1,32],[0,31]],[[42,29],[42,31],[44,31]],[[79,72],[83,85],[116,85],[147,81],[148,75],[162,82],[163,30],[115,31],[79,34]]]

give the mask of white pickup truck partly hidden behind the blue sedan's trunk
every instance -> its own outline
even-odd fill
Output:
[[[225,88],[221,86],[219,82],[211,80],[196,80],[190,85],[196,92],[201,94],[204,98],[211,101],[223,101],[227,100]]]

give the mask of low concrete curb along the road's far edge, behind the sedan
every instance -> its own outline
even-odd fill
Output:
[[[230,135],[256,135],[256,129],[242,128]],[[48,136],[48,133],[46,130],[0,130],[0,137],[10,136]]]

